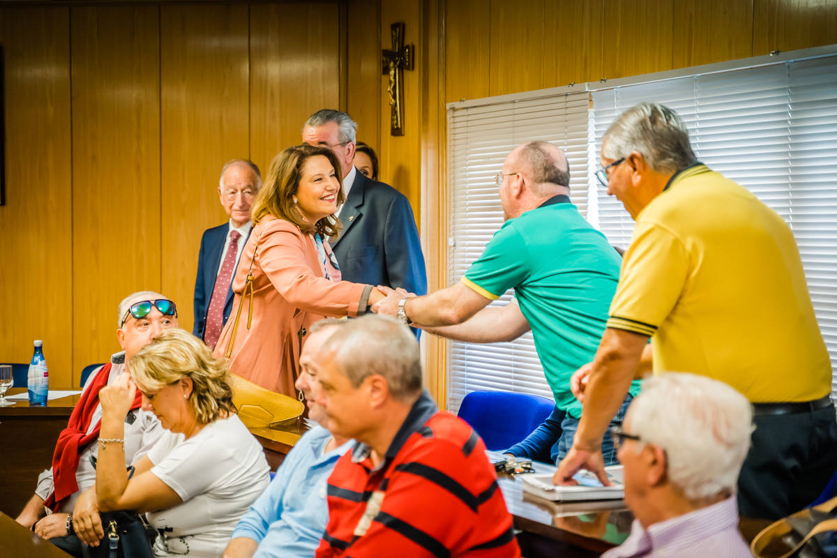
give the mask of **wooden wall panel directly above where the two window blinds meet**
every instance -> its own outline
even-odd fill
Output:
[[[602,78],[604,0],[544,4],[544,87]]]

